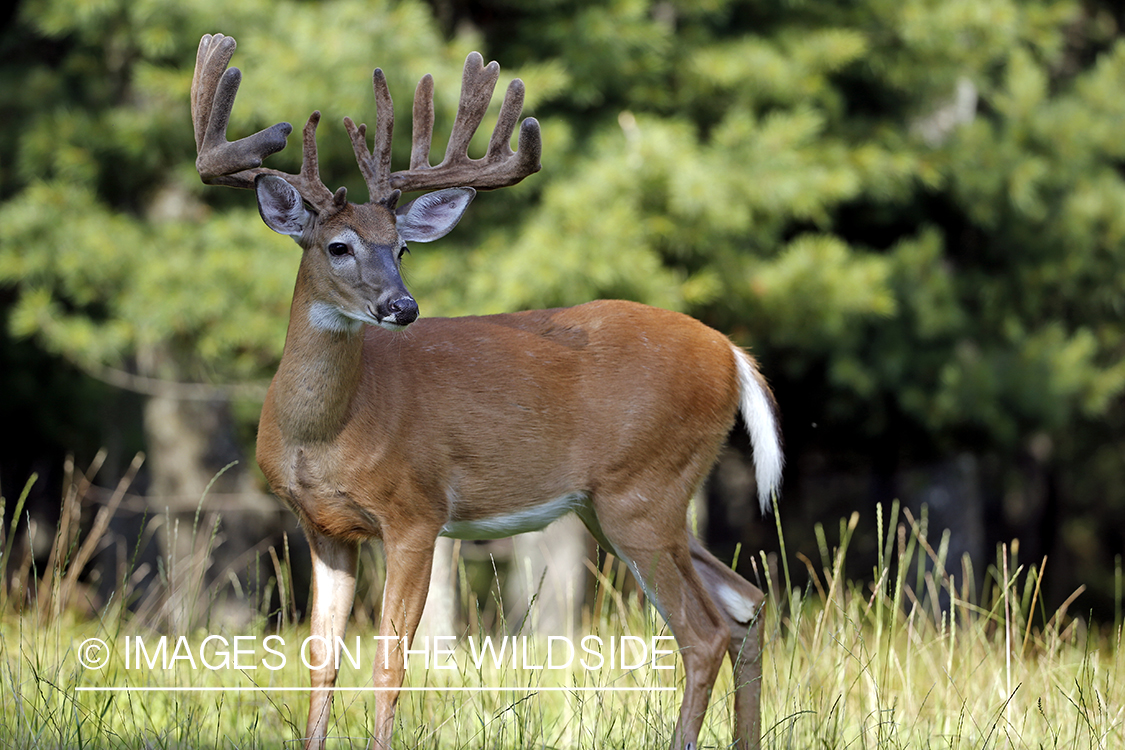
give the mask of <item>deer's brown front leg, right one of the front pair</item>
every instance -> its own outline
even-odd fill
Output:
[[[375,735],[372,750],[390,748],[395,706],[406,674],[406,649],[414,640],[430,588],[436,531],[395,539],[384,530],[387,581],[382,589],[379,648],[375,656]]]

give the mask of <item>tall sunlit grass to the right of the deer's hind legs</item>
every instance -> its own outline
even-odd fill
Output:
[[[1088,630],[1065,605],[1042,613],[1045,561],[1018,564],[1018,544],[998,551],[975,596],[971,563],[954,572],[946,540],[935,549],[925,519],[897,515],[876,585],[840,580],[853,517],[837,546],[821,545],[819,570],[807,560],[810,590],[767,609],[764,744],[1122,747],[1120,631]]]

